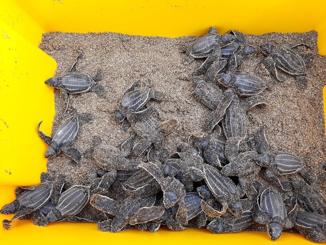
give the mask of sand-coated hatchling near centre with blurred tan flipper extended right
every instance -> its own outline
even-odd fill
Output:
[[[165,161],[168,156],[168,151],[164,148],[163,136],[176,130],[179,126],[179,122],[172,118],[159,122],[156,118],[157,111],[152,107],[148,107],[139,112],[128,113],[128,121],[131,123],[136,134],[141,138],[141,140],[134,145],[132,151],[135,155],[139,156],[153,144],[154,148],[150,156],[155,157],[157,155],[160,156],[157,160]],[[156,154],[156,152],[160,154]],[[162,152],[165,154],[162,154]],[[153,161],[154,159],[151,160]]]

